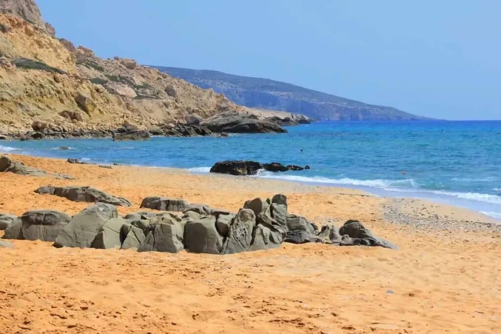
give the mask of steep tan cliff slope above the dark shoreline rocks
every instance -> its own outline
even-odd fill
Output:
[[[243,111],[201,89],[130,59],[101,59],[44,29],[31,0],[0,0],[0,133],[30,130],[34,120],[65,129],[148,128]],[[28,21],[27,21],[28,20]],[[65,111],[79,114],[71,120]]]

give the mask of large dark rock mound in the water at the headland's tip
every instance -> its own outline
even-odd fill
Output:
[[[249,113],[225,112],[212,116],[201,123],[213,132],[226,133],[283,133],[277,123],[260,120]]]

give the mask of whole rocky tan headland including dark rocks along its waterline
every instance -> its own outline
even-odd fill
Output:
[[[123,137],[124,128],[145,131],[141,139],[219,136],[308,122],[267,119],[132,59],[102,59],[56,38],[32,0],[0,2],[0,110],[0,139]]]

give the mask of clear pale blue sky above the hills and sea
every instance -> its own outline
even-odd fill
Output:
[[[269,78],[407,112],[501,119],[501,1],[38,0],[100,57]]]

